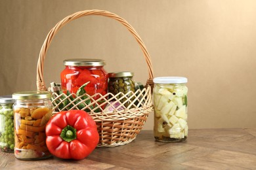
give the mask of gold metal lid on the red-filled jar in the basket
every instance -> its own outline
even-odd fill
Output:
[[[103,59],[65,59],[64,65],[70,66],[103,66],[106,62]]]

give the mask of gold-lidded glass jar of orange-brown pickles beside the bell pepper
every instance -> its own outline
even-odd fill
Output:
[[[53,114],[51,93],[45,91],[19,92],[14,110],[14,156],[19,160],[41,160],[49,158],[45,143],[45,126]]]

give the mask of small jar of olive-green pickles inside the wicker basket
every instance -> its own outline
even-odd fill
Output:
[[[126,97],[121,99],[121,103],[123,103],[125,107],[128,107],[131,104],[131,101],[134,99],[134,97],[132,99],[128,99],[135,92],[135,82],[133,80],[133,75],[134,74],[129,71],[114,72],[108,74],[108,92],[113,93],[114,95],[121,92],[120,95],[117,96],[117,99],[125,95]]]

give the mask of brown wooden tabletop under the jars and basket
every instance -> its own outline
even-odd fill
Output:
[[[135,141],[96,148],[84,160],[20,161],[0,152],[0,169],[256,169],[256,129],[190,129],[183,143],[154,141],[141,131]]]

